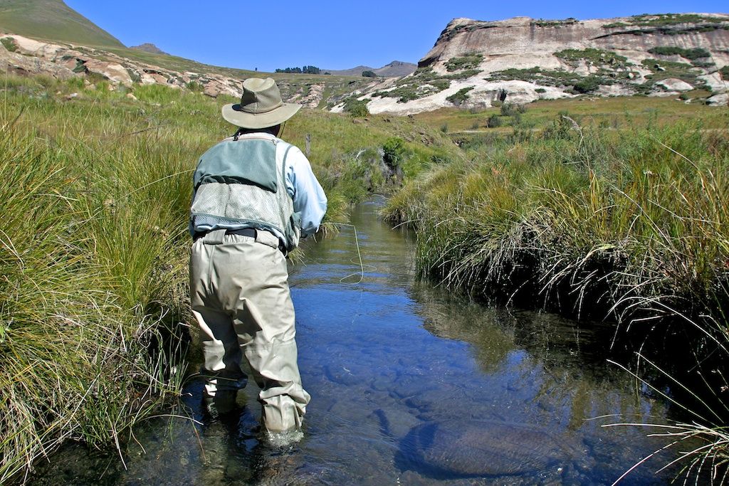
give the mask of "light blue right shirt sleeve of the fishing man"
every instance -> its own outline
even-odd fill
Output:
[[[301,213],[301,235],[313,235],[327,212],[327,195],[308,159],[296,146],[286,157],[286,191],[294,202],[294,211]]]

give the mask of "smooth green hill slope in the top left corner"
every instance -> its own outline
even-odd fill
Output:
[[[0,0],[0,30],[73,44],[124,47],[63,0]]]

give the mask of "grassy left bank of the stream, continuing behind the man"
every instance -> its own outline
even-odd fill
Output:
[[[129,95],[133,94],[135,98]],[[0,482],[64,440],[124,448],[189,370],[187,211],[226,100],[160,86],[0,79]],[[459,149],[410,119],[303,110],[284,138],[330,197],[387,192]]]

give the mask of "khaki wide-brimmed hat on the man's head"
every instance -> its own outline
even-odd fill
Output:
[[[241,128],[267,128],[293,117],[301,105],[284,103],[276,82],[271,78],[243,81],[240,104],[223,106],[223,118]]]

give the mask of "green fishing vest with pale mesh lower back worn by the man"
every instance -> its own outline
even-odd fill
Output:
[[[246,137],[227,138],[205,152],[192,178],[193,230],[255,228],[283,236],[286,251],[296,248],[300,213],[294,212],[286,191],[286,156],[291,148],[278,138]],[[281,150],[284,156],[276,157]]]

